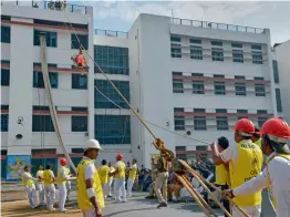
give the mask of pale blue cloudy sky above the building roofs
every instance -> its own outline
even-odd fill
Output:
[[[128,31],[139,13],[153,13],[191,20],[269,28],[272,44],[290,39],[290,1],[103,0],[79,1],[77,3],[93,6],[94,22],[97,29]]]

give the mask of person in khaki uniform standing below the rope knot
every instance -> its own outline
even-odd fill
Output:
[[[167,207],[167,179],[168,179],[168,163],[162,154],[157,164],[157,177],[155,180],[155,194],[159,200],[157,208]]]

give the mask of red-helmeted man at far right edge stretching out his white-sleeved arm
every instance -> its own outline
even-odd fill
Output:
[[[266,168],[256,178],[231,190],[222,192],[235,198],[269,187],[277,217],[290,216],[290,151],[287,141],[290,127],[281,118],[270,118],[261,127],[261,149],[267,155]]]

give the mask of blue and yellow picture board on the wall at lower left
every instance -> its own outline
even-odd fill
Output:
[[[31,165],[30,155],[7,156],[7,180],[20,180],[25,165]]]

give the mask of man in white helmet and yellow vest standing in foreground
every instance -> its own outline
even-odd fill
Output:
[[[76,168],[77,204],[83,217],[102,217],[105,207],[101,180],[94,165],[101,149],[96,140],[86,141],[83,159]]]

